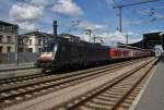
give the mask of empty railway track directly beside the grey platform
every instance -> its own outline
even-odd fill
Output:
[[[149,77],[156,60],[109,81],[50,110],[128,110]]]

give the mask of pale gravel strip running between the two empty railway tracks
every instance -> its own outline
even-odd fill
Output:
[[[136,66],[139,66],[141,63],[145,63],[147,61],[142,61],[140,63],[131,64],[130,70],[134,69]],[[92,90],[95,87],[98,87],[119,75],[126,73],[129,71],[129,66],[121,69],[119,71],[113,72],[110,74],[106,74],[104,76],[99,76],[97,78],[94,78],[89,82],[84,82],[81,84],[77,84],[72,87],[63,88],[61,90],[58,90],[56,93],[51,93],[49,95],[45,95],[43,97],[38,97],[34,100],[25,101],[15,106],[11,106],[9,108],[5,108],[5,110],[43,110],[48,109],[54,106],[58,106],[62,102],[69,101],[70,99],[78,97],[89,90]]]

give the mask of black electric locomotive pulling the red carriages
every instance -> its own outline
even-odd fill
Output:
[[[45,45],[36,65],[46,71],[107,62],[109,61],[108,48],[99,44],[82,41],[77,36],[60,35]]]

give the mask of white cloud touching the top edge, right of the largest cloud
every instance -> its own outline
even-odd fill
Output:
[[[82,15],[82,9],[74,3],[72,0],[58,0],[54,7],[52,11],[60,14],[67,15]]]

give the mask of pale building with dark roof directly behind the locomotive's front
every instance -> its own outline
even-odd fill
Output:
[[[43,46],[52,37],[51,34],[38,30],[19,35],[19,52],[40,52]]]

